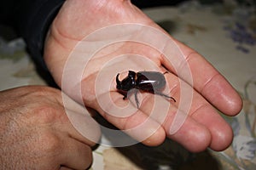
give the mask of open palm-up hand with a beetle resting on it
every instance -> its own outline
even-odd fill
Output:
[[[143,144],[157,145],[162,143],[167,136],[183,144],[186,149],[191,151],[201,151],[207,147],[212,150],[224,150],[228,147],[233,137],[232,129],[214,107],[228,116],[235,116],[241,110],[241,98],[230,83],[206,59],[181,42],[170,37],[174,41],[172,44],[177,47],[173,45],[173,47],[170,46],[165,50],[168,51],[175,48],[180,50],[186,61],[185,65],[189,67],[191,79],[186,77],[188,72],[181,73],[184,63],[177,62],[178,57],[177,59],[175,58],[177,55],[175,51],[171,52],[173,63],[170,63],[160,51],[139,42],[127,41],[106,46],[102,48],[102,51],[97,52],[93,58],[88,59],[88,63],[84,62],[86,65],[80,62],[79,56],[84,56],[85,59],[86,57],[88,58],[87,55],[90,55],[86,51],[90,51],[90,48],[86,47],[86,41],[83,42],[84,37],[90,37],[90,33],[97,29],[117,24],[125,25],[125,23],[151,26],[167,36],[165,31],[128,0],[66,1],[50,27],[44,49],[44,59],[49,71],[55,78],[55,82],[73,99],[84,102],[84,105],[99,111],[108,122],[113,123],[121,130],[125,130],[126,133],[129,133],[134,139],[142,141]],[[130,30],[127,29],[125,31],[129,32]],[[143,33],[143,31],[138,31],[132,36],[139,40]],[[151,34],[148,34],[148,37],[151,37],[152,42],[156,45],[166,43],[165,39],[154,37]],[[104,40],[108,41],[108,35],[91,38],[87,43],[91,47],[90,44],[97,44]],[[85,44],[80,46],[84,47],[84,49],[77,48],[79,43]],[[170,106],[170,102],[167,102],[166,99],[152,94],[142,94],[143,99],[139,110],[135,105],[134,110],[131,110],[133,114],[129,116],[123,115],[125,109],[119,111],[119,115],[113,115],[113,112],[117,112],[117,107],[114,105],[127,105],[127,100],[123,100],[122,95],[116,91],[113,79],[118,72],[113,74],[113,70],[119,67],[123,71],[131,69],[135,71],[150,71],[148,69],[152,68],[140,63],[138,60],[138,58],[141,59],[140,57],[117,58],[121,54],[143,56],[143,59],[148,59],[148,62],[156,65],[156,68],[154,68],[156,71],[170,71],[170,73],[165,74],[167,88],[164,91],[174,97],[177,102],[172,103]],[[79,70],[68,71],[67,61],[70,59],[69,56],[78,58],[78,64],[73,65],[73,67],[84,69],[82,74],[79,74]],[[120,60],[113,65],[108,65],[113,59]],[[67,72],[69,73],[67,74]],[[99,73],[104,74],[104,72],[106,73],[104,76],[108,78],[103,78],[102,82],[97,82],[99,79],[97,75]],[[63,75],[67,80],[69,78],[69,83],[64,81],[65,83],[63,84]],[[120,75],[120,79],[123,77],[125,76]],[[79,81],[81,81],[83,101],[79,99]],[[111,84],[107,86],[104,81],[111,82]],[[101,88],[96,88],[99,83],[102,83]],[[189,89],[192,95],[181,95],[183,89],[181,84],[186,84],[184,87]],[[111,99],[108,99],[109,94]],[[190,106],[189,111],[183,112],[185,105],[183,105],[182,99],[186,99],[187,95],[188,97],[189,95],[192,96],[190,96],[191,103],[188,103]],[[104,105],[109,106],[107,108],[108,111],[106,111],[106,108],[102,108],[98,99],[103,100],[102,103],[105,102]],[[154,116],[151,116],[151,112],[154,109],[152,107],[154,99],[159,101],[160,108],[167,108],[165,114],[158,110],[157,113],[154,113]],[[183,112],[185,120],[177,132],[171,133],[172,122],[178,112]],[[133,129],[133,127],[137,127],[143,122],[148,123],[140,127],[139,130]],[[142,139],[142,136],[147,138]]]

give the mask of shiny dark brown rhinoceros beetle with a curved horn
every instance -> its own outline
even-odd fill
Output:
[[[157,71],[129,71],[128,76],[125,77],[122,81],[119,81],[118,74],[116,76],[116,88],[120,94],[124,95],[123,99],[127,98],[128,91],[132,89],[138,89],[151,94],[164,96],[176,102],[176,100],[171,96],[162,94],[160,92],[160,90],[166,86],[166,78],[164,77],[164,74]],[[139,108],[137,90],[135,91],[135,101],[137,108]]]

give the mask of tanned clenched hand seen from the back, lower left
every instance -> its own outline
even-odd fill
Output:
[[[91,133],[99,138],[98,127]],[[85,169],[95,144],[69,122],[61,92],[46,87],[0,92],[0,139],[1,169]]]

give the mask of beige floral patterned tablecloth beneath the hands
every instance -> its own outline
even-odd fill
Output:
[[[181,42],[195,48],[241,94],[241,114],[224,117],[235,138],[227,150],[192,154],[167,139],[159,147],[135,144],[123,148],[99,145],[91,169],[255,169],[256,167],[256,16],[253,7],[201,5],[144,10]],[[254,15],[253,15],[254,14]],[[148,35],[149,36],[149,35]],[[0,37],[0,89],[45,84],[21,39]],[[104,137],[103,137],[104,139]]]

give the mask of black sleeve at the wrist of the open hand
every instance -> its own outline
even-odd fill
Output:
[[[46,69],[44,39],[65,0],[7,0],[0,3],[2,25],[13,27],[23,37],[32,59]]]

